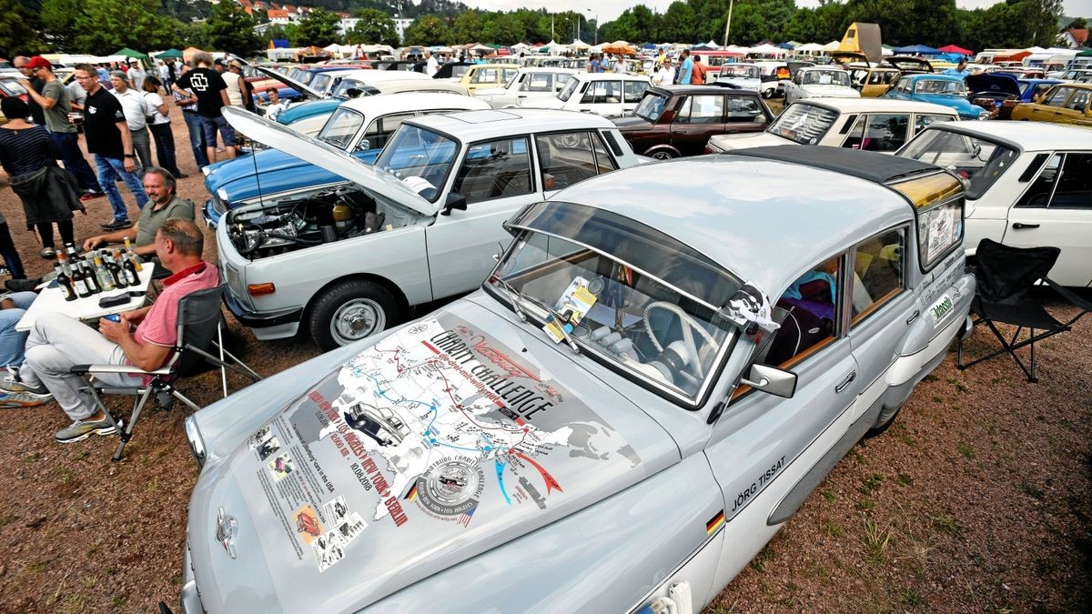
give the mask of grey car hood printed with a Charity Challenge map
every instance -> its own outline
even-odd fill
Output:
[[[357,611],[678,462],[658,423],[548,343],[461,300],[317,376],[202,475],[205,609]]]

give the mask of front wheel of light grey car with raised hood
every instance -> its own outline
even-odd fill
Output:
[[[311,307],[311,339],[323,351],[382,331],[397,319],[394,297],[383,286],[347,280],[325,291]]]

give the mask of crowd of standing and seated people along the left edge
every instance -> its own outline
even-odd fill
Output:
[[[23,262],[28,255],[20,253],[0,214],[0,255],[11,276],[4,282],[7,292],[0,293],[0,366],[8,367],[0,375],[0,406],[56,400],[72,421],[57,433],[57,441],[109,435],[117,426],[92,403],[86,380],[70,373],[73,365],[158,368],[175,346],[178,300],[219,283],[216,267],[202,260],[204,236],[194,223],[193,203],[177,194],[176,181],[187,175],[179,170],[170,121],[173,109],[180,109],[198,168],[234,157],[235,134],[222,109],[252,105],[252,93],[240,75],[241,64],[214,61],[209,54],[177,69],[173,62],[161,62],[156,70],[140,62],[114,70],[80,63],[74,67],[76,93],[45,58],[14,59],[28,96],[25,102],[14,96],[0,101],[9,120],[0,126],[0,166],[22,203],[26,229],[41,244],[38,256],[52,260],[66,246],[69,253],[79,253],[132,240],[135,253],[153,262],[162,284],[152,305],[122,312],[119,321],[82,322],[43,312],[33,328],[16,330],[48,280],[27,279]],[[81,129],[93,165],[81,149]],[[86,214],[88,201],[103,197],[111,213],[102,223],[103,234],[78,238],[74,213]],[[128,375],[106,379],[114,386],[142,381]]]

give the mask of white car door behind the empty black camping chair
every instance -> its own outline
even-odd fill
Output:
[[[1063,285],[1090,285],[1092,153],[1053,154],[1009,209],[1001,243],[1013,247],[1060,248],[1051,279]]]

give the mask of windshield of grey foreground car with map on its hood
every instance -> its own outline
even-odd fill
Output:
[[[560,318],[582,353],[697,404],[736,330],[713,307],[739,290],[734,275],[658,231],[595,208],[542,202],[509,226],[519,233],[486,282],[498,300],[514,300],[536,328]]]

